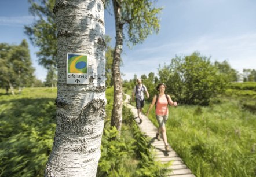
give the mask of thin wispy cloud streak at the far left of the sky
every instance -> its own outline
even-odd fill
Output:
[[[3,17],[0,16],[1,26],[23,26],[30,24],[34,20],[33,16],[17,16],[17,17]]]

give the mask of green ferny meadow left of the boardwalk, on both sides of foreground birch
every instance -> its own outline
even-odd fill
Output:
[[[17,91],[17,90],[16,90]],[[43,176],[55,132],[57,89],[25,88],[16,96],[0,90],[0,176]],[[106,91],[104,134],[97,176],[164,176],[130,110],[123,108],[122,134],[111,128],[113,89]]]

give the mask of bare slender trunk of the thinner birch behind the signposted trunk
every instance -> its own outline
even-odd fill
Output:
[[[123,24],[121,21],[120,4],[122,0],[113,0],[116,26],[116,45],[114,49],[112,78],[114,80],[114,103],[112,109],[111,126],[115,126],[120,132],[122,127],[123,83],[120,74],[120,62],[123,46]]]

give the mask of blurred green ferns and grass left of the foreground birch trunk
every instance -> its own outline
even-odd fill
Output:
[[[0,176],[43,176],[54,138],[56,90],[24,89],[0,98]]]

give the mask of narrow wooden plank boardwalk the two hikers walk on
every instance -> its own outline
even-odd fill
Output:
[[[131,109],[131,112],[134,115],[134,120],[136,120],[140,130],[145,133],[148,137],[151,138],[151,143],[154,146],[154,150],[156,153],[155,160],[161,161],[161,163],[167,163],[168,161],[173,161],[170,168],[172,172],[167,176],[173,177],[195,177],[192,174],[190,169],[186,167],[186,165],[182,162],[181,158],[178,157],[178,154],[170,147],[171,152],[166,152],[164,149],[164,142],[158,141],[156,139],[156,131],[157,128],[153,125],[153,123],[148,119],[147,116],[142,115],[142,123],[138,119],[137,109],[129,104],[130,95],[126,94],[125,105]],[[170,146],[170,145],[169,145]]]

